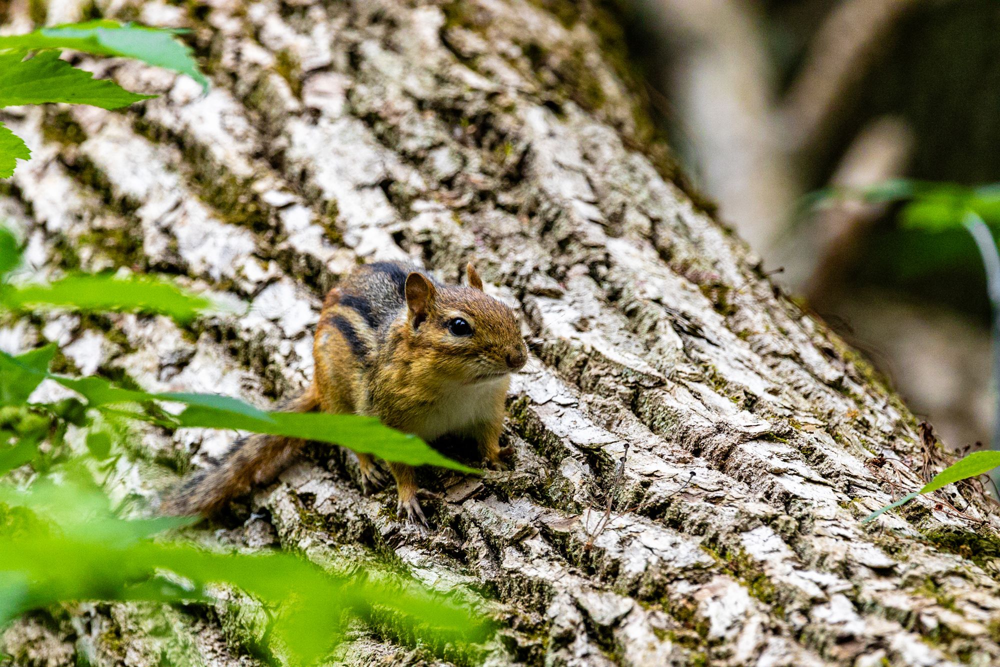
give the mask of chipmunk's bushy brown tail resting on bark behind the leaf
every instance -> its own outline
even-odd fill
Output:
[[[281,412],[309,412],[319,406],[319,396],[310,387],[282,401]],[[165,515],[203,514],[217,511],[230,498],[247,493],[254,485],[267,484],[302,451],[304,440],[279,435],[254,434],[240,438],[222,460],[199,470],[171,491],[160,505]]]

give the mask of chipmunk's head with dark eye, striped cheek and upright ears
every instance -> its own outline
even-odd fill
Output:
[[[463,384],[496,380],[528,360],[517,313],[483,292],[472,264],[468,287],[435,285],[422,273],[406,277],[410,342],[427,371]]]

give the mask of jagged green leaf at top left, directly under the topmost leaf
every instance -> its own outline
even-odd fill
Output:
[[[0,53],[0,107],[66,102],[118,109],[155,97],[130,93],[114,81],[95,79],[90,72],[60,60],[55,51],[21,58],[20,53]]]

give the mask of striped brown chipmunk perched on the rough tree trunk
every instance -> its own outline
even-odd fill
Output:
[[[358,267],[330,290],[313,342],[313,382],[278,409],[378,417],[426,442],[471,437],[501,467],[500,432],[510,374],[528,359],[515,311],[483,293],[466,266],[468,287],[443,285],[422,269],[397,262]],[[252,485],[270,482],[305,442],[251,435],[223,459],[192,475],[161,506],[165,514],[208,514]],[[356,453],[366,493],[384,477],[370,454]],[[427,525],[414,469],[388,463],[397,510]]]

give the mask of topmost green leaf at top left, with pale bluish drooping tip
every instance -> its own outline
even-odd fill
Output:
[[[75,49],[103,56],[134,58],[157,67],[187,74],[208,90],[208,79],[198,69],[191,49],[177,39],[179,30],[149,28],[117,21],[42,28],[27,35],[0,37],[0,49]]]

